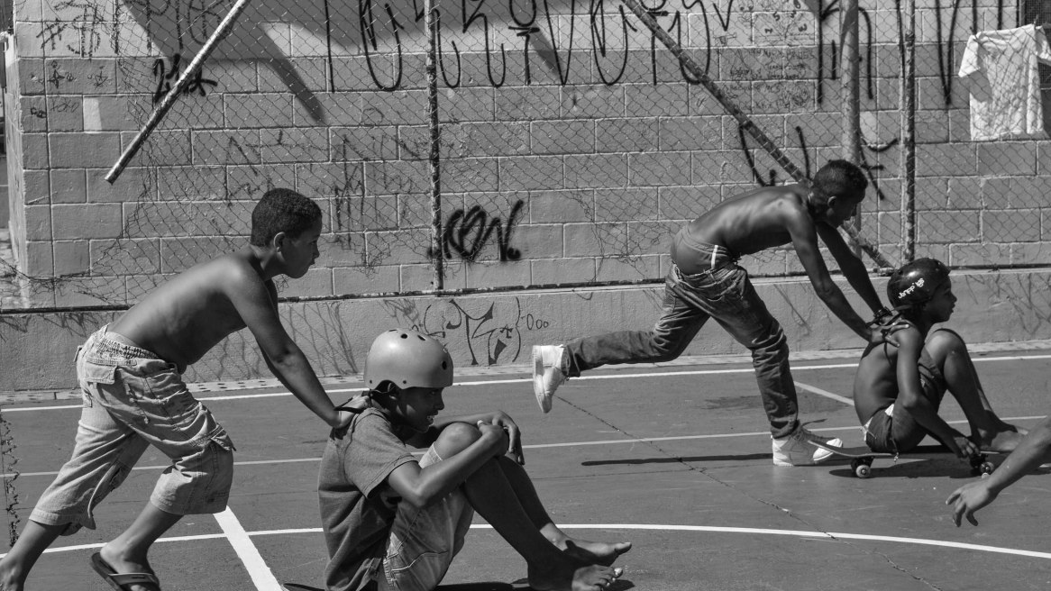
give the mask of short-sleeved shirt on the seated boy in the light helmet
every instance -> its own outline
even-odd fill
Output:
[[[354,417],[345,432],[329,436],[317,478],[329,591],[375,588],[400,501],[387,477],[414,461],[390,420],[374,408]]]

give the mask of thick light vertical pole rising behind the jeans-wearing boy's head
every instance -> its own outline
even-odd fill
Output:
[[[861,164],[861,91],[858,51],[858,0],[843,0],[840,9],[840,96],[843,115],[843,159]],[[861,204],[854,210],[854,232],[861,232]],[[861,255],[861,247],[854,246]]]

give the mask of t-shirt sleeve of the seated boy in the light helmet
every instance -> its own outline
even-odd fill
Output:
[[[366,413],[355,423],[344,469],[354,486],[368,497],[395,468],[415,460],[383,415]]]

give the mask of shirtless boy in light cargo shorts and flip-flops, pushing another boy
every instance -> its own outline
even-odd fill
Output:
[[[323,421],[333,427],[350,421],[350,413],[334,408],[277,314],[273,278],[305,275],[318,255],[321,232],[316,204],[287,189],[268,191],[252,211],[249,246],[187,270],[88,337],[77,353],[84,405],[73,457],[0,561],[0,589],[21,590],[59,535],[94,529],[94,508],[149,445],[172,464],[131,526],[103,546],[91,566],[116,589],[160,588],[146,556],[150,545],[183,515],[226,508],[233,444],[182,373],[233,332],[247,326],[274,376]]]

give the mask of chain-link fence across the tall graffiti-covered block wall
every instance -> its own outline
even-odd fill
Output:
[[[847,154],[871,187],[845,231],[872,267],[1046,265],[1046,136],[973,139],[959,70],[972,34],[1048,8],[870,4],[854,43],[834,2],[252,2],[223,29],[230,0],[16,0],[44,76],[19,75],[15,132],[51,146],[23,166],[50,182],[50,236],[23,229],[50,272],[17,277],[33,305],[132,303],[246,244],[255,199],[282,186],[327,214],[321,259],[283,295],[658,281],[682,224]],[[107,229],[61,232],[75,213]],[[803,272],[787,248],[743,265]]]

